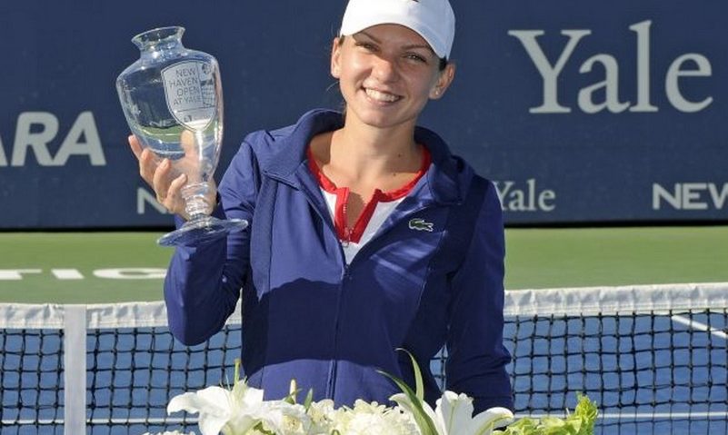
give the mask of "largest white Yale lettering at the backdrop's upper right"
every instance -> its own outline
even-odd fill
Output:
[[[629,29],[636,34],[637,89],[635,104],[619,101],[619,64],[611,54],[595,54],[586,59],[579,67],[579,73],[592,73],[594,66],[599,64],[604,70],[603,81],[585,86],[579,91],[577,102],[579,108],[586,114],[596,114],[607,110],[619,114],[629,108],[630,112],[657,112],[657,106],[650,103],[650,26],[651,20],[646,20]],[[558,82],[564,67],[571,59],[576,46],[584,36],[592,35],[589,29],[562,30],[561,34],[569,40],[563,47],[561,54],[554,64],[551,64],[544,54],[536,38],[544,35],[544,30],[509,30],[508,35],[517,38],[524,45],[526,54],[531,58],[536,70],[541,74],[543,81],[543,102],[541,105],[529,108],[532,114],[568,114],[571,107],[560,104],[558,101]],[[695,69],[683,68],[683,64],[692,62]],[[684,97],[679,86],[681,77],[707,77],[712,75],[710,61],[703,54],[688,53],[677,57],[665,75],[665,94],[673,107],[681,112],[699,112],[713,102],[712,96],[702,101],[693,102]],[[603,92],[602,92],[603,91]],[[603,94],[602,102],[595,102],[596,95]]]

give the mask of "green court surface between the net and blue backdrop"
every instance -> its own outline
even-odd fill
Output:
[[[0,302],[159,301],[161,232],[0,232]],[[509,290],[728,282],[728,226],[521,229],[506,237]]]

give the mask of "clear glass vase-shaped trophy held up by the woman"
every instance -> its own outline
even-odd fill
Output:
[[[163,246],[213,240],[247,227],[241,219],[208,215],[213,204],[207,193],[223,139],[223,90],[217,61],[184,48],[183,33],[183,27],[162,27],[136,35],[132,42],[141,57],[116,79],[126,121],[141,147],[156,161],[169,162],[173,177],[186,179],[181,193],[189,220],[157,241]]]

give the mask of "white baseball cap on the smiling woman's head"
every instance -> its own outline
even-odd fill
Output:
[[[349,0],[339,35],[373,25],[404,25],[420,34],[439,57],[453,48],[455,15],[448,0]]]

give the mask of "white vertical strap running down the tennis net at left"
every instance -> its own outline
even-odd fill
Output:
[[[86,433],[86,306],[64,307],[64,433]]]

